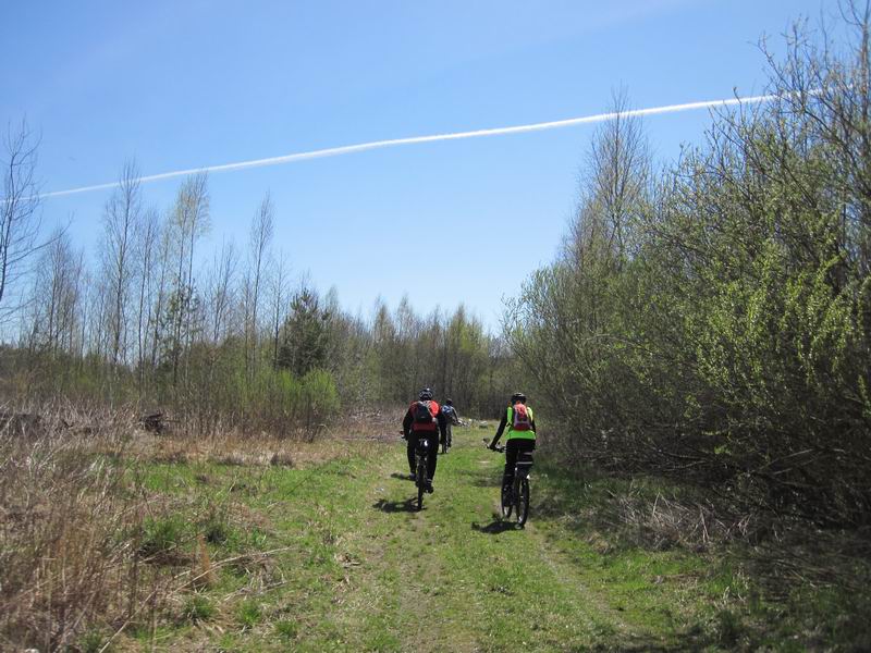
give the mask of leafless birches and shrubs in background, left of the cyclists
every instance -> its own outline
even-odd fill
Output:
[[[8,139],[8,167],[33,157],[27,136]],[[90,263],[65,231],[36,242],[35,160],[25,163],[27,176],[8,183],[5,197],[27,201],[3,205],[9,231],[29,238],[13,258],[35,262],[5,303],[15,334],[2,349],[7,398],[135,405],[196,432],[311,435],[335,417],[407,402],[422,385],[476,414],[510,392],[504,344],[462,305],[421,316],[407,298],[395,309],[378,300],[364,318],[344,311],[334,289],[294,279],[292,261],[275,251],[269,194],[247,244],[224,242],[209,257],[200,251],[210,227],[207,176],[185,180],[161,213],[146,205],[139,171],[127,163]]]

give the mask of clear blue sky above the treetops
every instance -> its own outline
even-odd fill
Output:
[[[0,121],[41,133],[45,190],[369,140],[561,120],[608,108],[762,91],[763,34],[834,0],[4,2]],[[657,156],[699,143],[708,112],[646,119]],[[592,127],[405,146],[211,175],[212,229],[245,246],[263,194],[275,247],[367,315],[403,294],[465,303],[498,326],[501,298],[550,261]],[[144,186],[165,209],[179,180]],[[96,249],[109,192],[47,199]],[[431,242],[420,247],[421,234]]]

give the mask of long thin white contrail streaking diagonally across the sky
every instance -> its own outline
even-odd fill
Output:
[[[174,177],[187,176],[200,172],[231,172],[234,170],[245,170],[247,168],[260,168],[262,165],[279,165],[281,163],[293,163],[294,161],[305,161],[307,159],[320,159],[323,157],[340,157],[342,155],[352,155],[355,152],[365,152],[367,150],[381,149],[385,147],[396,147],[401,145],[416,145],[419,143],[436,143],[437,140],[458,140],[461,138],[479,138],[482,136],[504,136],[507,134],[524,134],[527,132],[542,132],[544,130],[559,130],[561,127],[573,127],[575,125],[586,125],[592,123],[606,122],[614,120],[617,116],[634,118],[645,115],[659,115],[660,113],[677,113],[679,111],[696,111],[698,109],[712,109],[717,107],[729,107],[733,104],[758,104],[760,102],[770,102],[777,99],[776,95],[762,95],[752,96],[747,98],[729,98],[725,100],[706,100],[701,102],[688,102],[686,104],[667,104],[665,107],[649,107],[647,109],[631,109],[628,111],[597,113],[594,115],[585,115],[582,118],[569,118],[567,120],[556,120],[551,122],[535,123],[531,125],[515,125],[512,127],[495,127],[491,130],[476,130],[473,132],[455,132],[453,134],[433,134],[430,136],[412,136],[408,138],[393,138],[390,140],[372,140],[370,143],[359,143],[357,145],[343,145],[341,147],[330,147],[326,149],[311,150],[308,152],[297,152],[294,155],[284,155],[282,157],[270,157],[268,159],[254,159],[252,161],[240,161],[237,163],[223,163],[220,165],[208,165],[206,168],[192,168],[189,170],[176,170],[173,172],[161,172],[159,174],[149,174],[138,177],[138,182],[158,182],[161,180],[171,180]],[[68,190],[52,190],[44,193],[37,197],[62,197],[64,195],[74,195],[77,193],[90,193],[93,190],[106,190],[109,188],[118,188],[121,182],[110,182],[107,184],[97,184],[94,186],[82,186],[79,188],[70,188]]]

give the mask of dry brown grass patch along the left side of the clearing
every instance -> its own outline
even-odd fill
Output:
[[[217,567],[253,564],[210,560],[196,535],[167,547],[144,541],[149,523],[204,509],[149,491],[149,464],[307,467],[347,455],[346,438],[357,436],[156,435],[133,410],[0,407],[0,650],[74,649],[89,629],[148,628]]]

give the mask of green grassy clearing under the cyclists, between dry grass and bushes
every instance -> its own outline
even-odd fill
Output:
[[[801,651],[857,641],[836,601],[820,616],[824,593],[770,600],[734,554],[683,541],[682,525],[670,535],[621,518],[665,496],[651,483],[567,478],[542,455],[529,525],[503,522],[503,457],[481,443],[492,430],[454,433],[422,512],[398,438],[333,441],[309,463],[139,465],[140,488],[164,509],[142,521],[135,546],[172,591],[158,605],[144,589],[123,621],[95,621],[75,648]]]

